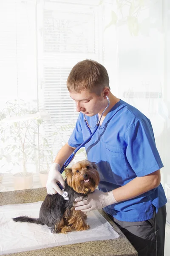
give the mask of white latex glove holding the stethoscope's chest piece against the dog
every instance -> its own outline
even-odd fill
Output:
[[[58,163],[53,163],[48,173],[48,180],[46,184],[48,195],[54,195],[57,193],[59,193],[59,195],[63,194],[56,182],[59,182],[63,187],[65,187],[64,179],[60,173],[60,166]]]

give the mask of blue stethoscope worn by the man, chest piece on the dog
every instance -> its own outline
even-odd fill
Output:
[[[103,113],[106,111],[106,109],[108,108],[109,104],[110,104],[110,101],[109,101],[109,98],[108,96],[106,96],[107,100],[108,100],[108,105],[107,107],[104,109],[104,111],[102,112],[101,116],[100,116],[100,119],[99,121],[96,123],[95,127],[94,127],[94,132],[92,133],[91,132],[91,127],[88,125],[88,121],[87,119],[85,118],[85,114],[84,114],[84,121],[85,121],[85,125],[86,127],[88,128],[88,131],[90,133],[90,136],[88,137],[88,139],[86,139],[81,145],[79,145],[75,150],[74,152],[68,157],[68,159],[65,161],[65,163],[63,164],[61,170],[60,170],[60,173],[62,174],[62,172],[64,171],[64,169],[69,165],[69,163],[71,162],[71,160],[73,159],[74,155],[77,153],[77,151],[83,147],[86,143],[88,143],[91,138],[93,137],[93,135],[95,134],[95,132],[97,131],[98,127],[99,127],[99,124],[100,124],[100,121],[102,119],[102,115]],[[61,186],[60,183],[57,183],[57,185],[59,186],[59,188],[62,190],[63,194],[62,194],[62,197],[65,199],[65,200],[68,200],[68,192],[67,191],[64,191],[64,188]]]

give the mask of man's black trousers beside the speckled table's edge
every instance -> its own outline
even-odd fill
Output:
[[[136,222],[118,221],[109,215],[139,256],[164,256],[166,206],[159,208],[157,214],[153,206],[153,213],[153,218]]]

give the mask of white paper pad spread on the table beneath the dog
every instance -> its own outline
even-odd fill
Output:
[[[38,218],[42,202],[0,207],[0,255],[86,241],[115,239],[119,235],[98,211],[88,212],[89,230],[52,234],[46,225],[14,222],[27,215]]]

